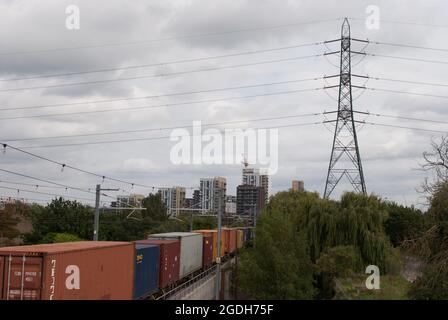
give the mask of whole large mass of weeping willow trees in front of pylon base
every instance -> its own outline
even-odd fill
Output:
[[[392,248],[384,231],[386,219],[386,205],[376,196],[346,193],[340,201],[330,201],[316,193],[278,193],[258,219],[255,249],[241,259],[241,287],[247,293],[274,288],[277,297],[294,299],[297,294],[288,295],[283,287],[294,285],[287,280],[294,274],[302,274],[300,284],[306,278],[308,285],[322,289],[316,282],[319,261],[340,261],[354,272],[364,272],[368,265],[388,272]],[[277,278],[280,270],[287,274]]]

